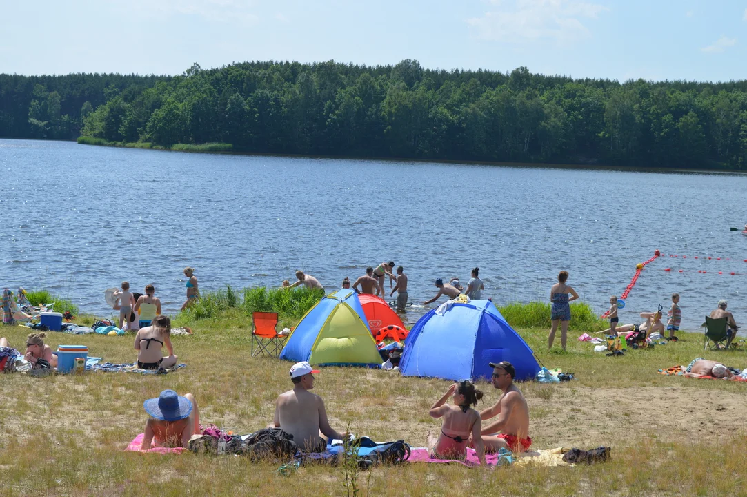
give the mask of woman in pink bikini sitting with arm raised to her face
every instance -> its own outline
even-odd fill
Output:
[[[451,397],[453,405],[444,403]],[[433,436],[428,432],[428,454],[433,459],[463,460],[467,455],[467,442],[472,437],[476,440],[477,458],[483,466],[485,462],[485,445],[480,436],[483,422],[480,413],[470,406],[477,405],[483,398],[483,392],[476,390],[468,381],[454,383],[443,397],[433,404],[429,414],[433,418],[443,418],[441,433]]]

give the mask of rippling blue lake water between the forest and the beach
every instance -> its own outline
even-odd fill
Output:
[[[176,312],[187,265],[202,291],[292,282],[297,268],[334,289],[390,259],[416,303],[436,294],[436,277],[466,283],[474,266],[499,305],[547,300],[565,269],[602,312],[658,248],[665,256],[642,273],[621,323],[666,309],[672,291],[684,328],[720,298],[747,320],[747,237],[729,230],[747,221],[746,176],[16,140],[0,140],[0,175],[0,286],[49,288],[84,312],[107,314],[104,290],[123,280],[138,291],[153,283]]]

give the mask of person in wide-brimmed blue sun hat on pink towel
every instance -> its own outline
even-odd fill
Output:
[[[156,447],[187,447],[192,435],[199,429],[199,410],[194,395],[184,397],[173,390],[164,390],[156,398],[143,402],[146,413],[152,416],[145,424],[145,436],[140,448],[147,451]]]

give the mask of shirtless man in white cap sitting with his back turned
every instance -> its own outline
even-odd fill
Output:
[[[275,401],[275,419],[270,427],[282,428],[293,435],[302,451],[323,452],[326,440],[343,439],[344,435],[332,430],[326,417],[324,401],[309,392],[314,388],[314,373],[309,362],[297,362],[291,367],[293,389],[281,394]]]

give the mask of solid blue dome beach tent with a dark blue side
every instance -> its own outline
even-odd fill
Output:
[[[455,303],[444,315],[436,309],[415,323],[400,361],[403,376],[444,380],[487,380],[490,362],[508,361],[516,380],[531,380],[539,371],[527,342],[506,322],[491,300]]]

